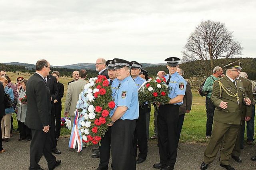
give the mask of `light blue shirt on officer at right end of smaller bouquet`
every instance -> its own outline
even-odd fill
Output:
[[[164,75],[164,78],[166,78],[166,82],[167,82],[169,79],[169,74]],[[187,85],[186,80],[177,72],[175,72],[172,75],[168,85],[169,91],[170,91],[170,94],[168,95],[168,97],[170,97],[170,99],[173,99],[178,95],[185,95],[186,85]],[[183,102],[174,103],[174,105],[182,105],[182,103]]]

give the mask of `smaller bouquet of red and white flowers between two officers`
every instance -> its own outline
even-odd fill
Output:
[[[164,77],[148,79],[145,85],[139,89],[138,93],[140,105],[144,102],[167,104],[170,101],[168,85],[166,85]]]

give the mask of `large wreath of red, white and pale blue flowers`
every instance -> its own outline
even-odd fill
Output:
[[[111,121],[109,113],[116,105],[112,101],[112,89],[108,84],[106,76],[91,78],[79,95],[75,111],[78,117],[75,128],[78,131],[75,133],[87,145],[100,145],[101,137],[108,130],[107,124]],[[72,134],[70,141],[71,138]],[[71,145],[74,146],[73,143]]]

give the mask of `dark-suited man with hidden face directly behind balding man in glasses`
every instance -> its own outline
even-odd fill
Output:
[[[46,83],[49,87],[50,94],[51,94],[51,104],[52,104],[52,110],[51,110],[51,124],[50,124],[50,138],[52,141],[52,152],[54,154],[61,154],[60,150],[57,149],[57,139],[55,135],[55,108],[54,108],[54,100],[58,97],[58,87],[57,87],[57,80],[56,77],[53,75],[48,75],[46,78]]]

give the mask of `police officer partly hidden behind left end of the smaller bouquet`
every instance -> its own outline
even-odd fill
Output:
[[[140,77],[140,71],[142,65],[136,61],[131,61],[132,66],[130,67],[132,78],[139,89],[142,83],[146,80]],[[148,104],[145,106],[142,105],[139,108],[139,118],[136,119],[136,128],[134,134],[134,151],[137,156],[137,142],[140,153],[138,154],[138,159],[136,160],[137,164],[144,162],[148,155],[148,142],[147,142],[147,134],[146,134],[146,110]]]

